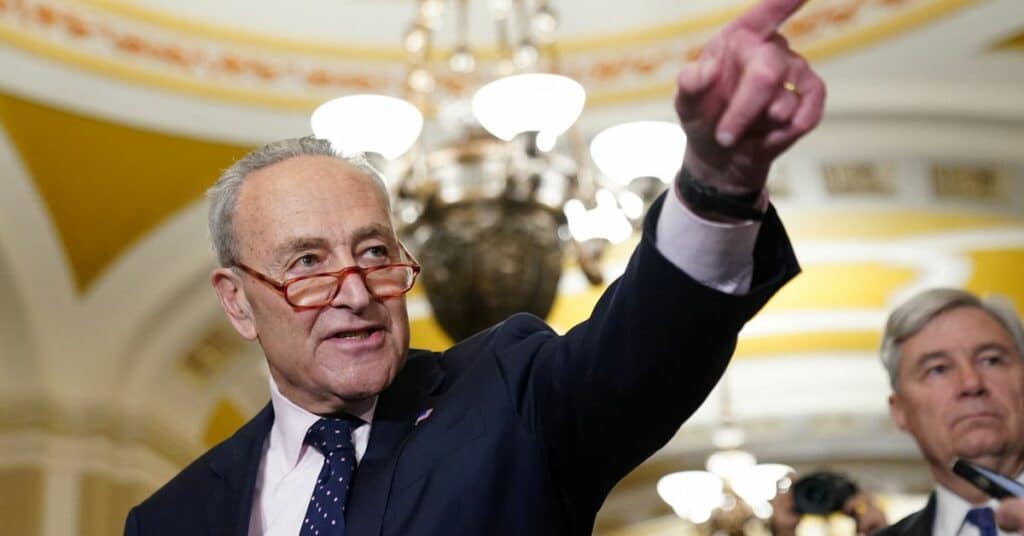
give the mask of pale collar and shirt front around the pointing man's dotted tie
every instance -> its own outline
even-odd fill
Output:
[[[316,477],[324,466],[324,455],[305,444],[306,430],[321,417],[288,400],[273,378],[269,383],[273,425],[263,445],[263,457],[256,475],[249,535],[297,536]],[[368,423],[352,431],[356,464],[367,452],[376,407],[374,401],[366,413],[355,415]]]

